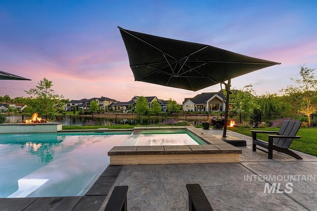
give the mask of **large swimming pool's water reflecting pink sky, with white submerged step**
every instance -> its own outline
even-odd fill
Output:
[[[83,196],[129,135],[0,135],[0,198]]]

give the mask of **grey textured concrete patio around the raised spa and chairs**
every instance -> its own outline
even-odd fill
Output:
[[[198,183],[213,210],[316,210],[317,157],[298,152],[303,160],[296,160],[274,151],[269,160],[262,151],[252,152],[251,137],[232,131],[227,135],[247,141],[247,147],[239,147],[239,163],[124,166],[103,208],[114,186],[127,185],[129,211],[185,211],[186,184]]]

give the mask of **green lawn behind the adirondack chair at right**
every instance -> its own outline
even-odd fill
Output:
[[[234,132],[238,132],[244,135],[251,136],[250,129],[246,127],[228,127],[229,130]],[[252,128],[254,130],[276,130],[278,131],[279,128]],[[301,136],[300,139],[294,139],[290,145],[290,149],[294,149],[300,152],[307,153],[309,155],[317,156],[317,127],[301,127],[297,134]],[[268,141],[267,134],[265,133],[258,133],[257,138]]]

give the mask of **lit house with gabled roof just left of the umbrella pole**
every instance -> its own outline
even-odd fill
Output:
[[[224,111],[225,99],[222,91],[204,92],[193,98],[185,98],[183,102],[184,111]]]

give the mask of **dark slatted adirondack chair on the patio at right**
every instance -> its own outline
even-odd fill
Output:
[[[256,151],[257,149],[259,149],[263,152],[268,153],[268,159],[273,158],[273,150],[285,153],[296,159],[303,159],[295,152],[288,149],[294,138],[301,137],[296,136],[296,133],[301,127],[301,124],[302,122],[297,121],[284,121],[279,131],[250,130],[253,137],[252,150]],[[268,134],[268,142],[265,142],[263,140],[257,139],[257,133],[276,133],[276,135]],[[267,149],[268,151],[258,148],[257,145]]]

